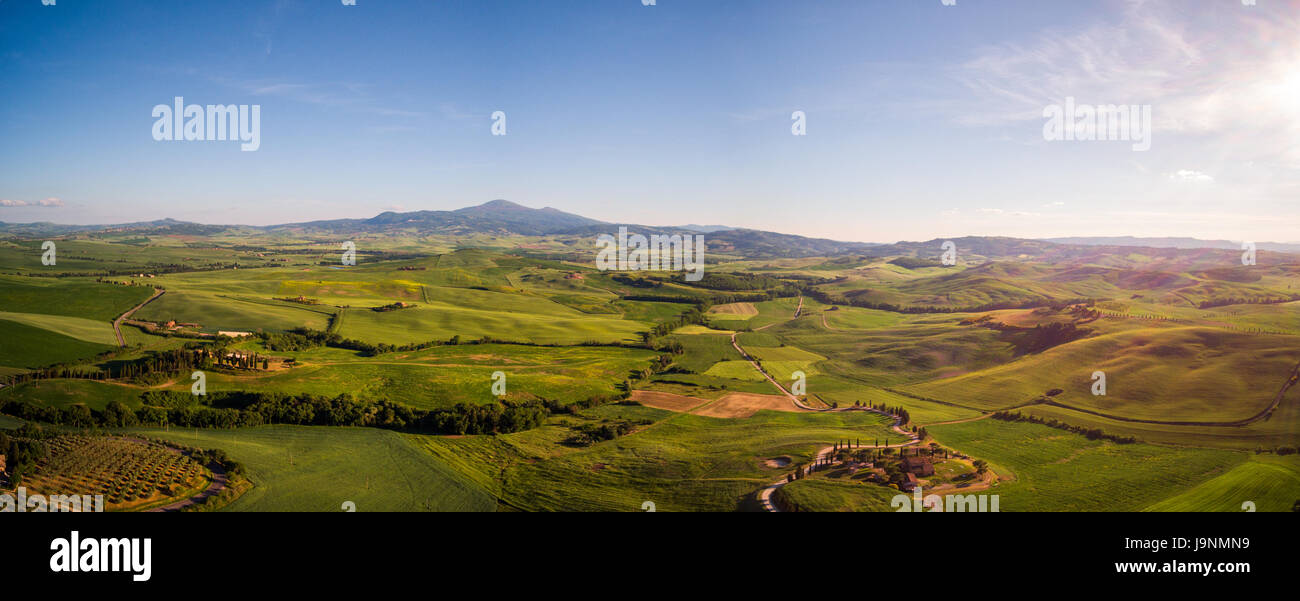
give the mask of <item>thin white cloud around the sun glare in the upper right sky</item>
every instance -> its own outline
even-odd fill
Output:
[[[953,70],[967,94],[946,111],[962,125],[998,126],[1041,121],[1066,96],[1150,104],[1157,133],[1300,167],[1297,29],[1282,5],[1222,3],[1190,16],[1169,0],[1131,0],[1114,21],[982,48]]]

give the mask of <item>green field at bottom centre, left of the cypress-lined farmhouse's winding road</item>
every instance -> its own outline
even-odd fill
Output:
[[[866,412],[764,411],[719,419],[647,407],[601,407],[606,415],[634,411],[655,420],[645,431],[589,449],[555,449],[547,429],[491,438],[424,438],[430,453],[476,464],[504,464],[502,502],[542,511],[734,511],[753,509],[753,494],[784,476],[772,457],[807,461],[824,441],[884,438],[885,419]],[[897,434],[894,434],[897,436]],[[549,483],[549,484],[545,484]]]

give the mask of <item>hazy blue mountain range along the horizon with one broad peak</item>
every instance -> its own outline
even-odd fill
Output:
[[[295,234],[347,235],[354,233],[404,232],[420,235],[519,234],[590,237],[615,234],[620,226],[630,233],[703,235],[708,252],[751,259],[805,258],[805,256],[910,256],[918,260],[937,260],[944,242],[896,242],[878,245],[867,242],[841,242],[824,238],[781,234],[725,225],[651,226],[606,222],[555,208],[529,208],[510,200],[491,200],[455,211],[386,211],[370,219],[337,219],[281,224],[268,226],[205,225],[174,219],[139,221],[116,225],[60,225],[51,222],[5,224],[0,234],[36,238],[69,234],[187,234],[208,235],[221,232],[290,232]],[[1053,263],[1092,264],[1114,268],[1141,267],[1180,272],[1187,269],[1213,269],[1232,264],[1240,254],[1240,243],[1230,241],[1202,241],[1196,238],[1138,238],[1138,237],[1076,237],[1026,239],[971,235],[950,239],[957,246],[962,263],[983,260],[1044,260]],[[1300,254],[1300,243],[1262,242],[1257,248],[1266,251],[1264,263],[1295,261],[1294,256],[1274,252]],[[1141,255],[1144,259],[1130,259]],[[1269,256],[1271,255],[1271,256]],[[1141,263],[1141,265],[1139,265]]]

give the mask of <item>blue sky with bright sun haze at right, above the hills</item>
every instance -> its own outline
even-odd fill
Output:
[[[1297,20],[1296,0],[0,0],[0,221],[506,198],[876,242],[1297,241]],[[261,147],[156,142],[174,96],[260,105]],[[1066,96],[1150,104],[1152,148],[1045,140]]]

